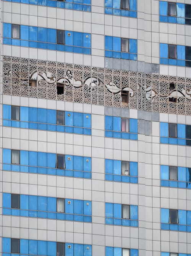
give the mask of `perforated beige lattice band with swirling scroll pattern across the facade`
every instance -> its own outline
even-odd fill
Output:
[[[3,57],[3,94],[191,115],[191,78],[10,56]]]

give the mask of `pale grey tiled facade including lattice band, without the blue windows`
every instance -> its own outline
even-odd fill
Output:
[[[190,256],[191,233],[163,230],[160,214],[161,208],[191,211],[191,190],[162,186],[160,168],[191,168],[191,147],[160,143],[160,123],[191,125],[191,68],[160,64],[159,48],[191,46],[191,26],[160,22],[159,0],[137,0],[137,18],[105,14],[104,0],[92,0],[91,12],[1,1],[1,14],[1,28],[91,34],[91,55],[1,44],[0,253],[2,238],[18,238],[89,245],[91,256],[122,256],[121,248],[130,256]],[[105,36],[137,40],[137,61],[105,57]],[[65,84],[62,95],[57,82]],[[128,104],[121,102],[124,88]],[[3,104],[91,115],[91,135],[3,126]],[[106,137],[105,116],[136,119],[138,139]],[[91,158],[91,178],[3,170],[3,148]],[[138,183],[107,180],[105,159],[137,162]],[[92,219],[2,214],[2,193],[91,201]],[[105,224],[105,203],[138,206],[138,226]]]

